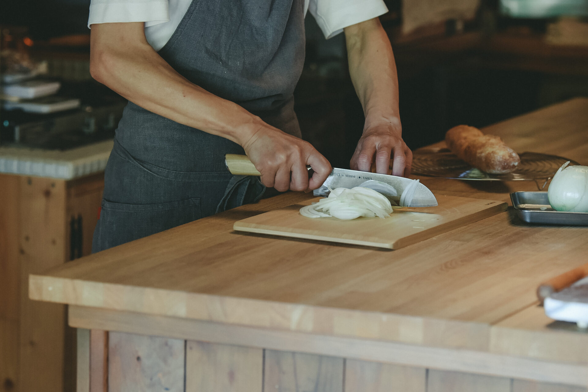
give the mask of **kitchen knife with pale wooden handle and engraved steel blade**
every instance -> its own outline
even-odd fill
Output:
[[[229,169],[229,172],[234,175],[261,175],[246,155],[226,154],[225,164],[227,169]],[[392,186],[396,190],[397,195],[389,195],[386,192],[382,192],[376,182],[383,182]],[[333,171],[330,173],[329,177],[327,177],[323,185],[320,186],[319,189],[315,189],[313,194],[315,196],[328,196],[330,193],[329,187],[330,189],[335,189],[341,187],[352,188],[355,186],[366,186],[385,194],[390,199],[397,202],[400,199],[402,192],[404,192],[406,187],[412,182],[413,180],[405,177],[333,168]],[[436,205],[437,199],[435,199],[435,195],[433,195],[429,188],[419,182],[415,190],[415,196],[406,207],[434,207]]]

